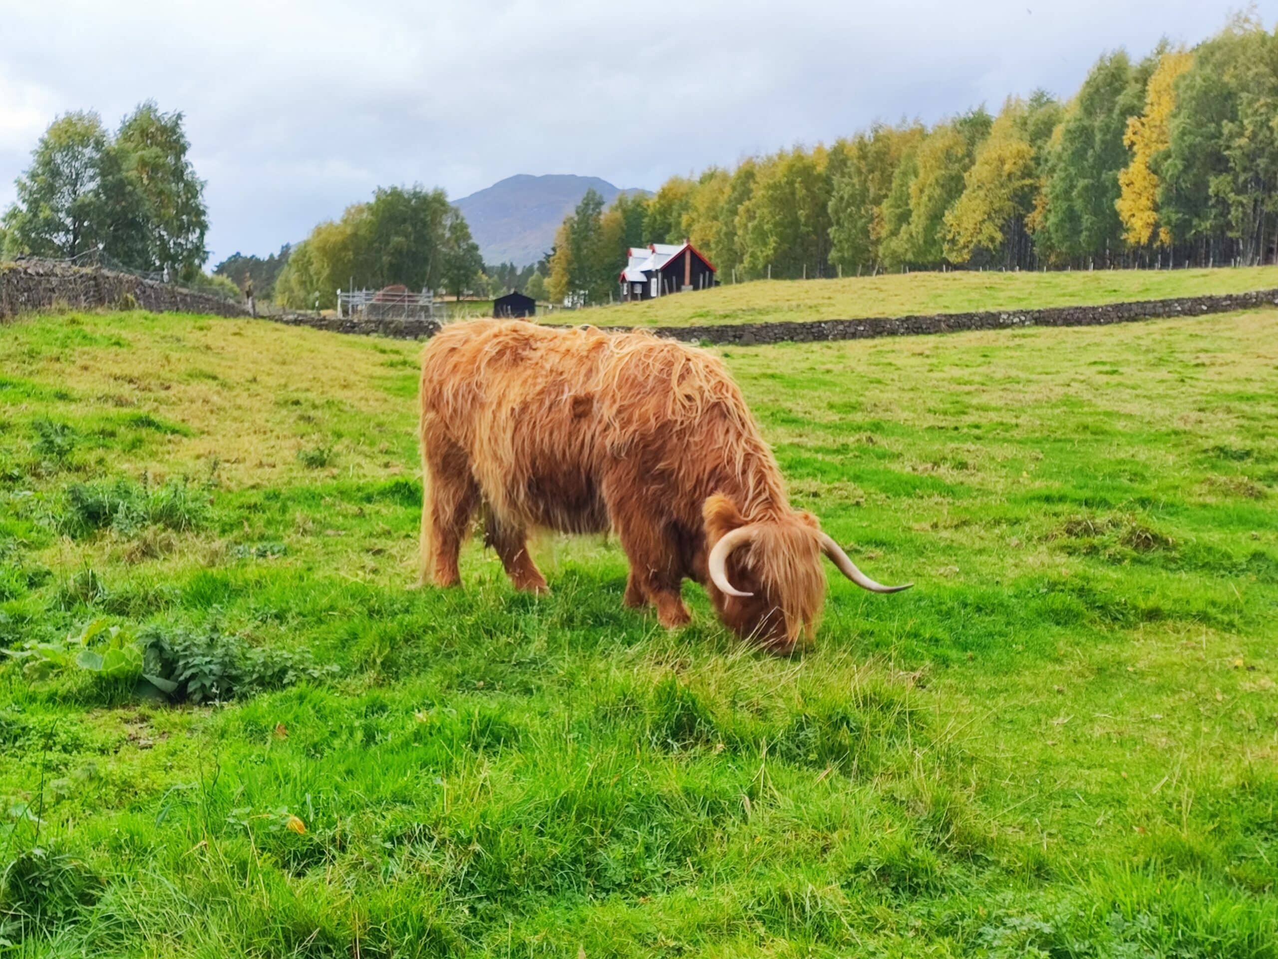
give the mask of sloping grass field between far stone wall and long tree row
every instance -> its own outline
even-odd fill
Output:
[[[1278,267],[1095,272],[916,272],[843,280],[757,280],[573,313],[596,326],[709,326],[909,313],[1090,306],[1278,286]]]

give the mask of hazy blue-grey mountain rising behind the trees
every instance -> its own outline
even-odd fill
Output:
[[[470,224],[470,234],[479,244],[486,263],[527,266],[550,252],[555,230],[590,188],[603,197],[606,205],[619,193],[648,196],[648,191],[622,191],[598,176],[530,176],[521,173],[454,201],[454,206]]]

